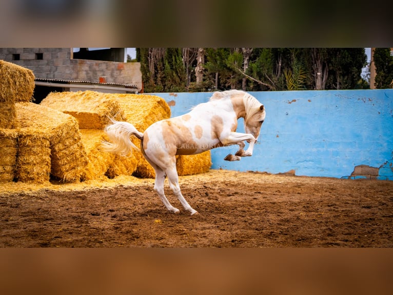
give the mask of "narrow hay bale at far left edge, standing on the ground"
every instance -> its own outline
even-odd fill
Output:
[[[14,130],[0,129],[0,182],[14,179],[17,137]]]

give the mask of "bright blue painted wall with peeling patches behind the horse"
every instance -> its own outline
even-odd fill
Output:
[[[393,89],[250,92],[266,107],[252,157],[224,161],[238,146],[211,151],[212,169],[348,177],[355,166],[393,180]],[[211,93],[155,93],[183,115]],[[239,132],[244,132],[242,119]]]

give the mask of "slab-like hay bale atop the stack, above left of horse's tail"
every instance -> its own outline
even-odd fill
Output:
[[[81,129],[103,129],[109,117],[124,121],[119,102],[96,91],[53,92],[40,105],[72,115]]]

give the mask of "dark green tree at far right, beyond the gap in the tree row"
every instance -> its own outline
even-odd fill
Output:
[[[393,57],[390,56],[390,48],[376,48],[374,50],[374,64],[377,74],[375,77],[376,88],[392,88]]]

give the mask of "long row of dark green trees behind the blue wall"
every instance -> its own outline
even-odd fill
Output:
[[[196,54],[189,59],[190,55],[183,56],[189,50],[182,48],[136,48],[144,91],[211,91],[242,87],[247,91],[315,89],[316,58],[324,67],[324,89],[366,87],[361,80],[362,68],[367,61],[364,48],[318,48],[313,51],[312,48],[252,48],[247,56],[248,67],[244,64],[241,48],[205,48],[204,51],[203,82],[197,85]],[[383,56],[387,58],[386,52]],[[380,68],[384,69],[386,77],[380,74],[378,83],[389,79],[391,82],[391,76],[386,74],[389,67]]]

